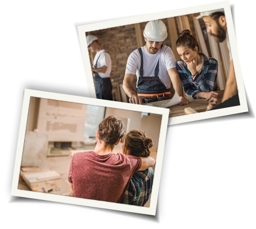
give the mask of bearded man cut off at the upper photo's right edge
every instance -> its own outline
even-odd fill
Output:
[[[211,98],[207,110],[216,110],[219,108],[240,105],[224,10],[218,9],[205,11],[200,13],[200,15],[196,18],[202,18],[203,22],[205,22],[207,32],[214,37],[214,40],[216,40],[216,42],[222,43],[225,41],[229,49],[229,72],[223,98],[222,100],[220,100],[219,98]]]

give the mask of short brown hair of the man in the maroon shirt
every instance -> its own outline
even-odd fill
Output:
[[[124,136],[123,122],[117,116],[108,116],[98,124],[99,140],[106,145],[114,145]]]

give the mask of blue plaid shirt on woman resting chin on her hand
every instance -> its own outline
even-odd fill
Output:
[[[218,61],[212,57],[206,57],[202,53],[199,55],[202,57],[202,67],[194,80],[191,72],[188,70],[187,64],[183,60],[179,60],[176,63],[184,92],[192,98],[198,98],[197,94],[199,92],[220,90],[217,84]]]

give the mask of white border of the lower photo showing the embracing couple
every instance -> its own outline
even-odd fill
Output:
[[[95,201],[92,199],[74,198],[72,196],[54,195],[50,193],[33,192],[29,190],[18,189],[19,174],[21,171],[22,152],[24,148],[25,132],[27,128],[28,110],[30,106],[30,98],[55,99],[66,102],[75,102],[87,105],[97,105],[101,107],[110,107],[123,110],[141,111],[152,114],[161,114],[162,121],[159,133],[158,151],[156,154],[155,177],[152,187],[152,195],[150,199],[150,207],[140,207],[135,205],[117,204],[114,202]],[[24,100],[21,113],[21,124],[19,127],[18,144],[16,150],[16,158],[14,163],[13,181],[11,185],[11,195],[21,196],[32,199],[42,199],[46,201],[63,202],[67,204],[85,205],[89,207],[98,207],[101,209],[120,210],[124,212],[141,213],[146,215],[156,214],[156,205],[158,200],[159,183],[161,177],[162,160],[164,155],[165,139],[167,134],[168,110],[159,107],[144,107],[137,104],[126,104],[124,102],[106,101],[103,99],[87,98],[83,96],[64,95],[60,93],[43,92],[39,90],[25,89]]]

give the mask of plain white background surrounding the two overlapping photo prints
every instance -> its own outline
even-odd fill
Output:
[[[75,24],[212,1],[1,1],[1,225],[256,228],[255,8],[230,1],[249,112],[168,127],[156,216],[10,195],[24,89],[88,96]]]

